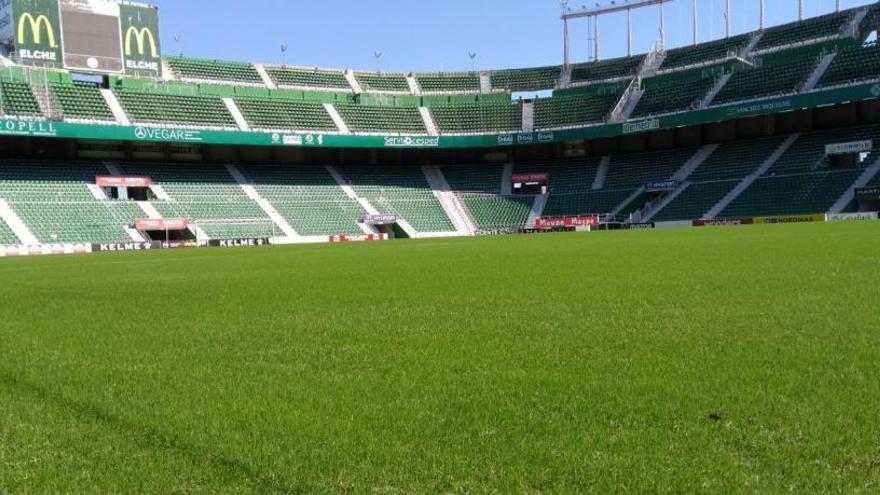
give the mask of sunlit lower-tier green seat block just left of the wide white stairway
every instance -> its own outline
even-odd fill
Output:
[[[418,232],[455,230],[421,168],[338,167],[338,171],[380,213],[403,218]]]

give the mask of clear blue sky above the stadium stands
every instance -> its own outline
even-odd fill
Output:
[[[593,0],[595,3],[597,0]],[[599,0],[608,3],[609,0]],[[562,62],[558,0],[152,0],[159,5],[163,49],[187,56],[383,71],[470,70],[557,65]],[[571,6],[586,2],[572,0]],[[873,0],[843,0],[843,8]],[[758,28],[759,0],[731,0],[733,32]],[[698,0],[699,39],[724,36],[725,0]],[[804,0],[807,16],[834,10],[835,0]],[[797,19],[797,0],[766,0],[766,22]],[[691,0],[666,9],[667,47],[692,40]],[[602,58],[626,54],[624,16],[601,21]],[[635,51],[659,38],[658,8],[633,13]],[[180,34],[179,43],[174,35]],[[586,60],[584,22],[572,25],[572,61]]]

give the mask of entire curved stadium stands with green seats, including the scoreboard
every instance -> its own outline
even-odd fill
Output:
[[[876,218],[878,25],[873,4],[600,62],[376,73],[164,56],[153,7],[7,0],[0,251]]]

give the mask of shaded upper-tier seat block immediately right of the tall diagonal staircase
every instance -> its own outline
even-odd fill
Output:
[[[632,117],[695,110],[715,85],[717,70],[694,70],[645,79]]]

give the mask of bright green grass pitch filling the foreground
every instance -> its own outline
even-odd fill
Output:
[[[0,260],[0,492],[880,491],[880,222]]]

